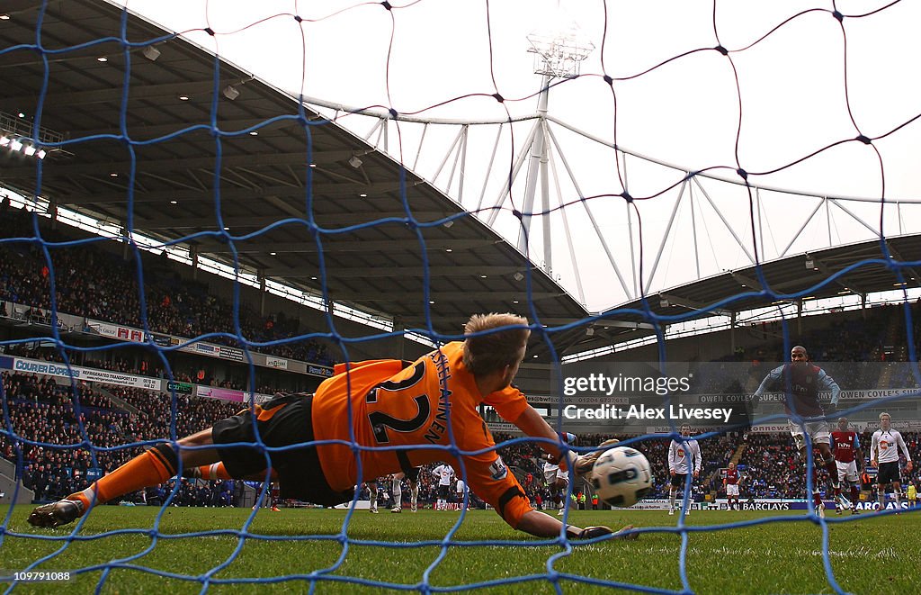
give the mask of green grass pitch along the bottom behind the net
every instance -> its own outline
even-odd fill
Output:
[[[21,570],[41,556],[52,554],[71,535],[73,526],[57,530],[32,529],[25,522],[30,507],[16,507],[7,534],[0,542],[0,568]],[[149,533],[96,535],[118,529],[145,530],[153,527],[157,508],[100,507],[82,527],[78,539],[40,566],[44,570],[75,571],[132,556],[153,548],[131,564],[169,573],[199,577],[222,565],[234,553],[239,539],[219,534],[170,538],[169,535],[197,531],[239,530],[249,509],[170,507],[158,531],[167,535],[156,542]],[[6,509],[4,510],[6,513]],[[737,520],[770,519],[772,515],[796,515],[799,520],[760,524],[722,531],[691,532],[687,554],[687,577],[697,593],[830,593],[822,566],[822,530],[799,512],[709,512],[695,511],[688,525],[701,527]],[[371,515],[356,511],[348,530],[351,539],[407,543],[444,539],[459,518],[458,512],[408,510],[400,515],[382,509]],[[281,536],[335,535],[342,529],[343,510],[261,510],[239,554],[215,578],[280,577],[308,574],[332,566],[343,554],[337,541],[272,541]],[[580,525],[606,524],[615,528],[632,523],[645,529],[674,527],[678,517],[662,511],[574,511],[570,521]],[[845,591],[853,593],[908,592],[917,580],[921,559],[921,509],[898,516],[834,517],[830,528],[831,558],[835,578]],[[853,520],[852,520],[853,519]],[[10,535],[45,535],[60,538],[44,541]],[[262,537],[262,538],[261,538]],[[91,539],[87,539],[91,538]],[[269,538],[269,539],[266,539]],[[493,511],[468,513],[454,539],[460,541],[527,540],[512,531]],[[682,590],[679,573],[681,537],[666,532],[645,532],[638,541],[608,541],[576,546],[561,556],[554,568],[566,575],[635,583],[649,588]],[[451,547],[429,575],[435,587],[457,588],[464,584],[495,581],[507,577],[545,574],[550,556],[562,552],[559,546],[515,545]],[[440,554],[437,545],[391,548],[352,543],[344,563],[332,577],[361,577],[414,586],[426,568]],[[68,583],[18,584],[15,593],[87,593],[97,588],[101,570],[75,573]],[[0,585],[6,589],[8,585]],[[197,593],[198,580],[159,577],[143,570],[115,568],[104,577],[102,593]],[[611,592],[608,589],[560,577],[567,593]],[[304,579],[269,584],[212,584],[215,593],[303,593]],[[378,593],[382,589],[362,587],[336,580],[321,580],[318,593]],[[392,590],[391,592],[398,592]],[[546,577],[527,582],[477,589],[480,593],[554,593]],[[622,591],[634,592],[634,591]]]

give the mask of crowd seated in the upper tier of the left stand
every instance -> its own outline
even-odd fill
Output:
[[[28,213],[10,208],[6,202],[0,209],[4,220],[0,237],[34,235]],[[71,239],[50,228],[42,229],[41,233],[47,241]],[[87,243],[53,248],[50,252],[53,268],[49,268],[43,252],[34,244],[0,244],[0,301],[29,306],[30,317],[50,320],[53,272],[59,312],[144,328],[134,258],[125,262]],[[168,261],[147,262],[145,266],[146,320],[151,331],[186,338],[211,332],[236,335],[230,299],[209,294],[203,284],[182,280],[174,271],[175,265]],[[286,317],[284,312],[263,317],[244,303],[239,306],[239,324],[242,335],[251,343],[277,341],[305,332],[299,328],[297,319]],[[207,341],[239,346],[236,339],[227,337],[210,337]],[[334,363],[327,346],[316,341],[251,346],[251,349],[325,366]]]

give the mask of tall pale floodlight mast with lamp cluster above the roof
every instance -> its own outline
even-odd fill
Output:
[[[541,211],[543,220],[543,269],[552,273],[553,256],[550,247],[550,188],[547,163],[550,158],[550,146],[547,143],[547,102],[550,86],[554,78],[576,78],[582,61],[589,57],[595,45],[578,28],[576,21],[565,17],[559,8],[551,21],[549,29],[537,30],[528,35],[530,48],[534,54],[534,74],[541,75],[541,93],[537,100],[538,119],[534,134],[531,135],[528,164],[528,183],[525,187],[525,200],[521,212],[519,231],[519,250],[528,253],[530,233],[530,213],[534,212],[534,197],[537,193],[538,175],[541,178]],[[571,241],[570,241],[571,243]],[[533,259],[532,259],[533,260]]]

